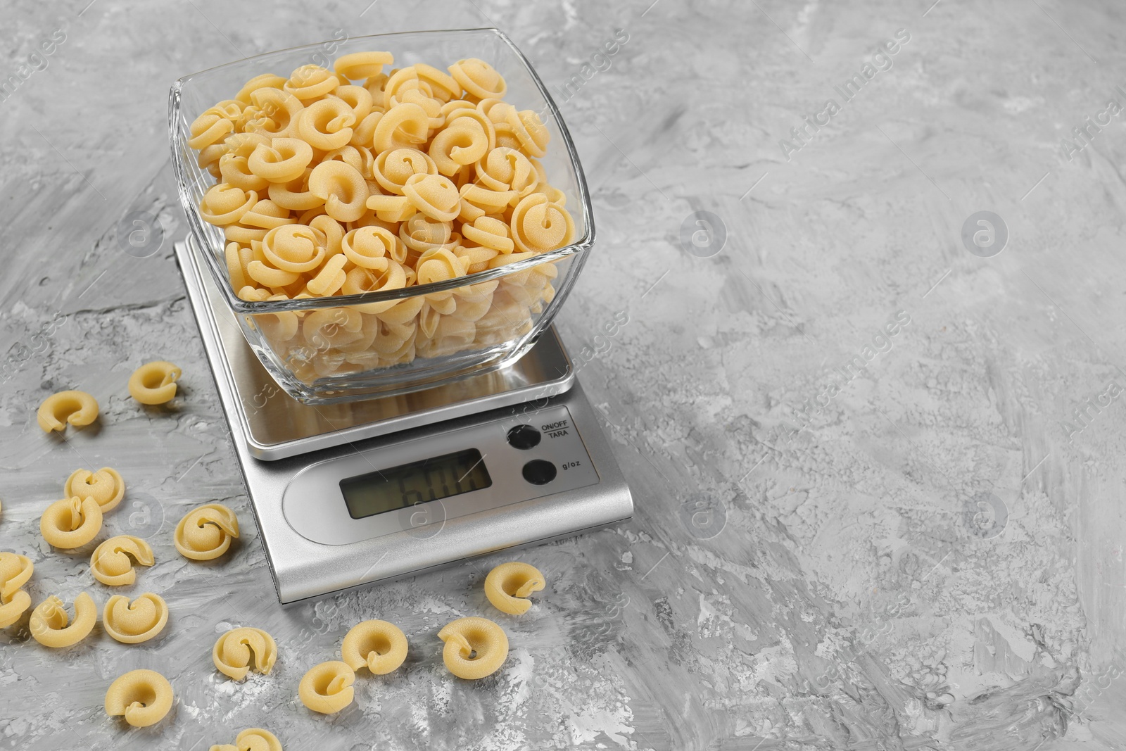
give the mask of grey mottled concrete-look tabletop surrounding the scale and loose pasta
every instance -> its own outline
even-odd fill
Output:
[[[259,724],[287,749],[1123,748],[1120,8],[650,1],[5,8],[0,548],[34,560],[34,602],[105,601],[89,552],[37,520],[71,470],[117,467],[104,534],[151,535],[129,591],[171,618],[137,646],[0,632],[0,748],[205,749]],[[435,634],[488,610],[504,555],[278,607],[171,258],[166,96],[338,29],[488,25],[584,160],[599,241],[560,325],[637,508],[521,556],[548,587],[467,683]],[[163,227],[148,258],[123,251],[131,211]],[[142,409],[125,382],[158,357],[182,394]],[[34,410],[72,386],[100,427],[52,440]],[[171,527],[208,501],[244,534],[189,563]],[[370,617],[410,635],[405,667],[313,716],[298,679]],[[239,685],[209,650],[243,624],[280,659]],[[101,707],[134,667],[177,692],[150,730]]]

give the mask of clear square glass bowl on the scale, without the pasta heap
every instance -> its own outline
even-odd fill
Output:
[[[477,274],[387,292],[252,302],[227,275],[221,227],[199,203],[215,178],[187,145],[191,122],[232,98],[261,73],[294,69],[368,50],[394,54],[396,68],[458,60],[486,61],[508,83],[504,101],[533,109],[551,133],[540,158],[566,197],[575,240],[557,250]],[[223,299],[262,365],[291,396],[306,404],[390,396],[502,368],[527,352],[574,285],[595,241],[590,196],[563,118],[527,59],[493,28],[379,34],[270,52],[193,73],[169,95],[172,164],[189,230]]]

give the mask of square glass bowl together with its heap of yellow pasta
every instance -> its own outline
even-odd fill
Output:
[[[595,240],[544,83],[497,29],[343,38],[179,79],[191,234],[250,347],[304,403],[515,363]]]

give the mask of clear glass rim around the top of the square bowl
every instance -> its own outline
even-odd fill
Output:
[[[540,263],[549,263],[554,261],[562,260],[570,256],[582,256],[584,251],[589,250],[595,244],[595,216],[591,207],[590,193],[587,187],[587,178],[582,171],[582,164],[579,161],[578,149],[574,145],[574,141],[571,137],[571,132],[568,129],[566,123],[563,119],[563,114],[560,111],[558,106],[552,98],[551,92],[544,84],[544,81],[539,78],[539,74],[533,68],[531,62],[528,57],[520,51],[519,47],[512,42],[512,39],[501,32],[499,28],[491,26],[483,27],[472,27],[472,28],[453,28],[453,29],[423,29],[414,32],[388,32],[384,34],[368,34],[365,36],[349,37],[347,42],[357,42],[363,39],[379,39],[386,37],[395,36],[418,36],[428,34],[457,34],[457,33],[475,33],[475,32],[490,32],[497,36],[501,42],[503,42],[508,48],[516,55],[516,57],[524,65],[524,70],[531,78],[533,83],[539,90],[540,96],[543,96],[544,101],[547,105],[547,113],[558,125],[560,136],[563,140],[563,144],[566,146],[568,158],[571,162],[571,169],[574,171],[575,186],[579,194],[579,203],[582,208],[583,224],[587,227],[586,233],[563,248],[556,248],[555,250],[549,250],[544,253],[539,253],[531,258],[526,258],[524,260],[513,261],[506,266],[500,266],[494,269],[485,269],[484,271],[477,271],[476,274],[468,274],[463,277],[454,277],[453,279],[445,279],[443,281],[432,281],[425,285],[414,285],[411,287],[401,287],[399,289],[387,289],[378,292],[366,292],[358,295],[337,295],[329,297],[310,297],[302,299],[275,299],[275,301],[247,301],[242,299],[235,294],[234,288],[231,285],[230,276],[226,274],[225,265],[221,265],[220,260],[213,249],[211,243],[206,240],[207,235],[203,227],[203,220],[199,216],[199,207],[195,205],[190,194],[188,193],[189,180],[188,176],[185,175],[184,164],[180,159],[180,154],[185,151],[195,151],[187,149],[187,143],[184,142],[182,134],[178,127],[178,115],[180,114],[180,91],[184,86],[189,81],[189,79],[200,75],[203,73],[214,72],[224,68],[233,65],[242,65],[247,61],[253,61],[258,57],[265,57],[269,55],[275,55],[285,52],[300,52],[304,50],[321,48],[322,45],[328,44],[329,41],[315,42],[313,44],[305,44],[294,47],[286,47],[283,50],[271,50],[269,52],[262,52],[257,55],[251,55],[249,57],[243,57],[240,60],[223,63],[221,65],[213,65],[195,73],[188,73],[181,75],[169,89],[168,96],[168,124],[169,124],[169,143],[172,150],[172,170],[176,175],[177,193],[180,197],[180,206],[184,208],[184,213],[187,215],[188,230],[191,232],[199,244],[203,247],[204,252],[200,254],[204,257],[207,267],[211,269],[212,275],[215,277],[217,287],[226,301],[227,305],[236,313],[278,313],[284,311],[311,311],[319,309],[333,309],[333,307],[348,307],[352,305],[364,305],[366,303],[382,303],[392,302],[400,299],[408,299],[411,297],[417,297],[419,295],[428,295],[444,292],[452,292],[454,289],[461,289],[463,287],[482,284],[491,281],[493,279],[500,279],[502,277],[509,276],[511,274],[518,274],[526,269],[539,266]],[[333,39],[332,42],[339,42]],[[580,263],[580,269],[581,269]],[[575,269],[578,272],[580,269]]]

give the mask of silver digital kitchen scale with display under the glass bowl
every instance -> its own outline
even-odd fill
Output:
[[[500,370],[302,404],[247,343],[194,236],[175,249],[283,604],[633,515],[554,327]]]

